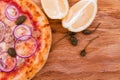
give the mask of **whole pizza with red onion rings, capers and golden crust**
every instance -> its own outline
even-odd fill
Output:
[[[0,80],[30,80],[51,46],[47,18],[31,0],[0,0]]]

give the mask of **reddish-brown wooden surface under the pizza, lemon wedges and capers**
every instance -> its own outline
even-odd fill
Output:
[[[40,0],[33,0],[40,6]],[[70,6],[79,0],[69,0]],[[53,42],[65,34],[56,20],[49,20],[53,29]],[[89,36],[78,33],[78,46],[72,46],[68,38],[58,43],[50,52],[44,68],[33,80],[120,80],[120,0],[98,0],[98,14],[89,27],[99,29]],[[79,55],[88,40],[99,36],[87,48],[86,57]]]

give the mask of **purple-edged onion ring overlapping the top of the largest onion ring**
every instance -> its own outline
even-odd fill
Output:
[[[31,30],[26,25],[19,25],[14,29],[14,36],[16,38],[19,38],[20,40],[27,40],[30,36],[24,36],[24,35],[31,35]]]

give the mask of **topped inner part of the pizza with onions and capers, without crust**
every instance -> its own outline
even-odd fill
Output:
[[[41,36],[41,32],[36,28],[37,21],[29,11],[22,10],[21,6],[12,1],[8,3],[3,3],[6,7],[0,10],[3,12],[0,13],[2,15],[0,19],[3,21],[0,21],[0,71],[2,72],[21,68],[26,59],[36,53],[39,48],[36,39]]]

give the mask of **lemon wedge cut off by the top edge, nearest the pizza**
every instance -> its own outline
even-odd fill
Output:
[[[69,10],[68,0],[41,0],[46,15],[51,19],[64,18]]]

